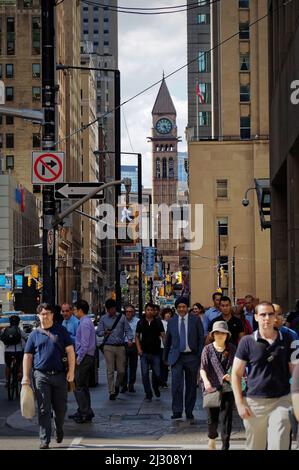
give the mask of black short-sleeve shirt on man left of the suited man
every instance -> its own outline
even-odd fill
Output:
[[[148,354],[160,353],[160,335],[164,333],[161,320],[155,318],[149,323],[145,317],[141,318],[137,323],[136,333],[141,335],[140,342],[143,352]]]

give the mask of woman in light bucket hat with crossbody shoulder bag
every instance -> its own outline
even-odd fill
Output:
[[[211,332],[213,342],[204,347],[201,355],[200,376],[203,394],[206,395],[216,390],[221,393],[220,405],[213,408],[207,407],[209,450],[216,450],[215,439],[218,437],[219,423],[222,450],[229,449],[234,405],[230,370],[236,353],[236,347],[229,342],[230,335],[225,321],[215,322]]]

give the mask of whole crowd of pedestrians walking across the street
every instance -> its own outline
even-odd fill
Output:
[[[218,430],[222,449],[229,449],[235,407],[244,423],[246,449],[289,449],[292,419],[299,418],[299,302],[285,324],[279,305],[258,303],[252,295],[236,307],[220,292],[212,301],[208,309],[199,302],[188,309],[188,299],[181,297],[175,309],[162,311],[147,303],[139,318],[133,305],[122,314],[115,300],[107,299],[96,327],[85,300],[63,303],[59,311],[41,304],[39,327],[29,337],[20,332],[17,344],[6,344],[5,352],[7,368],[12,354],[21,366],[24,353],[22,384],[33,383],[35,390],[40,449],[49,448],[52,416],[56,441],[63,440],[70,384],[75,384],[77,411],[69,418],[77,424],[94,418],[89,383],[99,345],[110,400],[135,393],[140,358],[146,401],[159,398],[171,376],[172,420],[185,413],[194,423],[197,394],[202,393],[208,449],[216,449]],[[18,320],[10,319],[11,336]]]

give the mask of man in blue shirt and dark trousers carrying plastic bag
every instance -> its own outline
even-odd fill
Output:
[[[33,365],[35,393],[38,404],[40,449],[48,449],[51,440],[51,412],[53,409],[56,442],[63,440],[63,423],[67,407],[67,382],[73,382],[75,352],[67,330],[53,323],[54,313],[49,304],[37,308],[40,327],[32,331],[23,360],[22,385],[30,385]],[[63,363],[67,354],[68,372]]]

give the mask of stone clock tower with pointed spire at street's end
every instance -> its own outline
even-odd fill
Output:
[[[163,77],[153,110],[153,203],[170,207],[178,200],[178,154],[176,110]],[[163,223],[165,223],[165,219]],[[179,240],[173,238],[173,217],[169,215],[169,237],[161,237],[161,213],[156,220],[157,254],[163,256],[165,274],[179,270]]]

